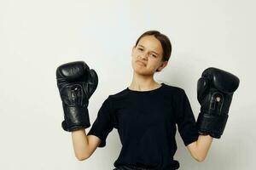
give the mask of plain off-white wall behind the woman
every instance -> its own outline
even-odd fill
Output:
[[[119,134],[86,161],[74,156],[71,133],[62,130],[57,66],[84,60],[99,77],[90,98],[90,122],[109,94],[131,83],[131,48],[144,31],[172,42],[157,82],[183,88],[195,118],[196,83],[213,66],[240,78],[221,139],[213,139],[203,162],[176,134],[175,159],[182,170],[251,170],[255,144],[255,1],[250,0],[1,0],[0,169],[113,169]],[[88,133],[90,127],[86,129]]]

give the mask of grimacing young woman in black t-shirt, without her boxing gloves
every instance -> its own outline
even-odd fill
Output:
[[[105,99],[87,135],[84,129],[72,133],[79,160],[104,147],[108,133],[116,128],[122,150],[113,163],[115,170],[177,169],[179,163],[173,159],[177,127],[191,156],[204,160],[212,137],[199,135],[184,90],[154,81],[154,73],[166,67],[171,52],[170,40],[160,31],[144,32],[137,39],[130,86]]]

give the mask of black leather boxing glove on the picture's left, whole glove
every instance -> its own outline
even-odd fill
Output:
[[[87,107],[98,84],[96,71],[84,61],[75,61],[60,65],[56,79],[64,110],[61,127],[67,132],[90,127]]]

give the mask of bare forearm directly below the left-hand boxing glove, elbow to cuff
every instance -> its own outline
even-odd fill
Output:
[[[88,156],[88,138],[84,129],[79,129],[72,132],[73,139],[73,150],[75,152],[75,156],[79,160],[84,160]]]

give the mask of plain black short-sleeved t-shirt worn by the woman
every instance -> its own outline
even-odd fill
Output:
[[[185,91],[165,83],[149,91],[125,88],[109,95],[87,135],[97,136],[102,141],[99,147],[104,147],[113,128],[118,130],[122,144],[114,167],[177,169],[179,162],[173,159],[177,150],[176,130],[185,146],[199,136]]]

